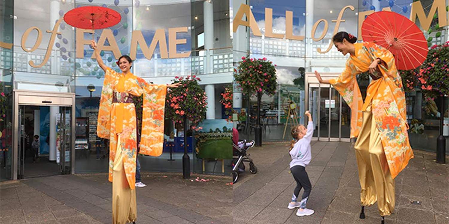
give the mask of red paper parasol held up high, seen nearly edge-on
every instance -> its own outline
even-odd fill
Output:
[[[83,6],[72,9],[64,15],[64,21],[70,26],[92,30],[114,26],[121,19],[118,12],[100,6]]]

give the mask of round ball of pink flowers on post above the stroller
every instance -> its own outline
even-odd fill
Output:
[[[266,58],[242,57],[240,65],[234,69],[234,79],[244,94],[265,93],[272,96],[277,87],[276,65]]]

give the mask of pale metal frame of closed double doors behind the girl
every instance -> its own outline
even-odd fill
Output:
[[[338,78],[340,73],[320,73],[321,74],[321,78],[329,80],[331,78]],[[342,100],[343,98],[341,97],[341,95],[339,95],[339,137],[338,138],[330,138],[330,112],[331,112],[331,108],[329,108],[329,111],[327,112],[329,115],[329,121],[328,121],[328,137],[327,138],[320,138],[320,104],[321,104],[321,88],[328,88],[329,89],[329,99],[332,97],[332,91],[331,89],[333,89],[332,85],[330,84],[321,84],[318,82],[317,78],[315,77],[315,73],[306,73],[305,75],[305,85],[306,88],[305,89],[305,102],[304,105],[307,105],[307,107],[309,106],[308,104],[308,91],[309,88],[318,88],[318,103],[317,103],[317,110],[318,110],[318,115],[317,115],[317,125],[318,125],[318,133],[317,133],[317,137],[313,137],[312,139],[315,141],[322,141],[324,140],[325,142],[350,142],[351,138],[342,138],[341,137],[341,121],[342,121]],[[308,108],[308,110],[311,110],[312,108]]]

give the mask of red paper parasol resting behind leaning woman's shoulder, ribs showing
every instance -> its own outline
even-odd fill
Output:
[[[426,60],[427,40],[423,32],[401,14],[381,11],[366,17],[362,38],[387,48],[395,57],[396,68],[414,69]]]

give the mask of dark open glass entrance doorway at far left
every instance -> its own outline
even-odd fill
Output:
[[[19,105],[18,179],[70,174],[72,108]]]

